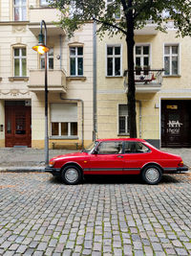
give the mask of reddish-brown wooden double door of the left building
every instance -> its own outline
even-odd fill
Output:
[[[6,147],[32,147],[32,108],[25,101],[5,102]]]

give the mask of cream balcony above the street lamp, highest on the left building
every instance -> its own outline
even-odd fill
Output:
[[[40,32],[40,22],[46,17],[48,35],[65,35],[62,28],[54,25],[59,22],[60,12],[49,7],[30,8],[30,24],[29,28],[33,35],[37,36]]]

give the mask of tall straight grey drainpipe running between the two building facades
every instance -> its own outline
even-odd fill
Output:
[[[97,112],[96,112],[96,20],[93,24],[93,140],[97,136]]]

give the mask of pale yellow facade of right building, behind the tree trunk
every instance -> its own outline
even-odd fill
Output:
[[[190,147],[190,37],[177,37],[149,23],[135,32],[138,137],[159,147]],[[97,47],[97,134],[128,136],[128,72],[125,38],[105,37]],[[104,57],[104,58],[103,58]],[[105,74],[103,74],[103,70]],[[102,74],[102,75],[101,75]]]

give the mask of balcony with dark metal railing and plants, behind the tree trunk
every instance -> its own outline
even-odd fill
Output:
[[[161,89],[163,81],[163,69],[145,69],[135,70],[136,92],[139,93],[157,93]],[[125,92],[128,92],[128,71],[124,72]]]

